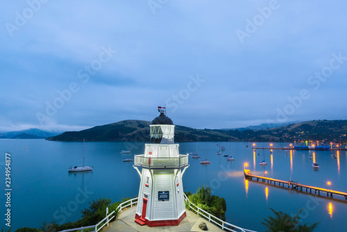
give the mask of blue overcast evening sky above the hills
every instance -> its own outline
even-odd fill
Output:
[[[4,1],[0,131],[346,119],[345,1]]]

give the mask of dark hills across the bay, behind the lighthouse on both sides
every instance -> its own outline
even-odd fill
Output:
[[[47,138],[52,141],[132,141],[149,142],[148,121],[124,120],[83,131],[69,131]],[[257,141],[293,142],[294,140],[346,141],[347,120],[313,120],[271,129],[192,129],[175,126],[175,142]]]

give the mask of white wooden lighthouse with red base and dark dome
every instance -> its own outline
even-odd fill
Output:
[[[188,156],[180,155],[174,143],[175,126],[158,107],[160,115],[150,125],[150,143],[144,154],[135,156],[139,174],[139,198],[135,222],[147,226],[177,226],[186,217],[182,176]]]

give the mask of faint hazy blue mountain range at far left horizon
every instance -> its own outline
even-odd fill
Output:
[[[0,133],[0,138],[13,138],[13,139],[42,139],[59,135],[59,132],[48,132],[40,129],[28,129],[24,131],[11,131]]]

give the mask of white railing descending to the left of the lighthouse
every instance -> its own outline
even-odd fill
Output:
[[[94,232],[98,232],[103,228],[103,226],[105,226],[106,224],[108,225],[108,223],[117,216],[117,215],[115,215],[116,211],[117,211],[117,213],[120,213],[121,210],[123,210],[124,208],[127,208],[128,206],[133,207],[133,205],[137,204],[137,199],[138,199],[138,197],[135,197],[135,198],[130,199],[128,201],[122,202],[121,204],[119,204],[119,206],[116,208],[116,210],[113,210],[110,214],[106,215],[106,217],[104,219],[102,219],[98,224],[96,224],[94,226],[82,226],[79,228],[68,229],[68,230],[59,231],[59,232],[70,232],[70,231],[80,231],[80,230],[81,230],[81,232],[83,232],[84,229],[90,229],[90,228],[94,228]],[[100,224],[102,224],[103,222],[105,222],[105,223],[98,228],[98,226]]]

